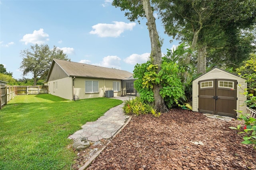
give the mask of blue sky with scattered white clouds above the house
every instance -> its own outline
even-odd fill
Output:
[[[20,52],[31,45],[54,45],[74,62],[132,72],[136,63],[150,55],[146,18],[141,24],[129,21],[111,0],[1,0],[0,64],[13,77],[22,78]],[[154,14],[156,16],[156,14]],[[164,44],[162,53],[178,45],[157,31]],[[31,78],[31,75],[26,76]]]

